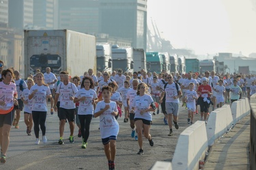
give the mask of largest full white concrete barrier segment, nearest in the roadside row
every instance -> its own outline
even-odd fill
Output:
[[[205,122],[197,121],[180,134],[171,163],[173,169],[199,169],[199,160],[205,158],[207,150]]]

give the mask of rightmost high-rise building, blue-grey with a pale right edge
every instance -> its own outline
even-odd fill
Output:
[[[147,0],[99,0],[99,32],[147,49]]]

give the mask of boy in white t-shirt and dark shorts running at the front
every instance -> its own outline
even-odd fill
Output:
[[[115,141],[119,132],[119,124],[115,119],[118,115],[117,104],[111,101],[112,88],[102,86],[102,99],[96,105],[94,117],[100,116],[100,135],[104,145],[106,158],[109,160],[109,169],[115,169]]]

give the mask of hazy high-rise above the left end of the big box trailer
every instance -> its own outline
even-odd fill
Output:
[[[9,0],[8,25],[16,29],[32,27],[33,0]]]

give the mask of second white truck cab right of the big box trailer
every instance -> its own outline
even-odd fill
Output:
[[[113,70],[122,69],[124,72],[133,72],[132,47],[112,46]]]

